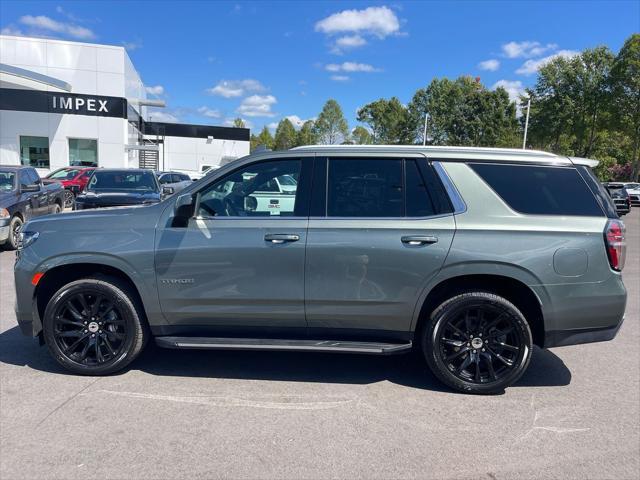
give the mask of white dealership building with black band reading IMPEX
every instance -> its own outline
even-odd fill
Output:
[[[200,172],[249,153],[249,130],[149,121],[123,47],[0,35],[0,165]]]

